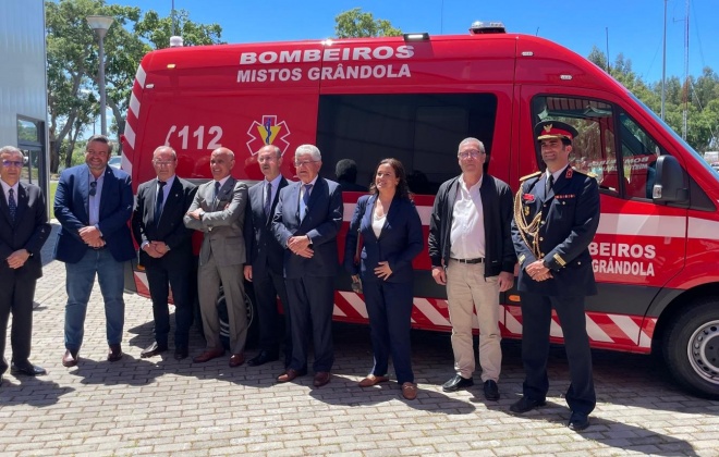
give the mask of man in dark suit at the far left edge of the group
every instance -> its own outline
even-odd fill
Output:
[[[42,275],[40,249],[50,235],[45,197],[39,187],[20,182],[24,156],[12,146],[0,148],[0,383],[8,370],[5,332],[12,312],[13,374],[45,374],[31,363],[33,297]]]

